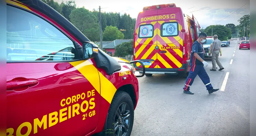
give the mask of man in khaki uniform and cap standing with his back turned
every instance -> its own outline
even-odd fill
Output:
[[[219,61],[219,54],[220,54],[220,50],[221,50],[221,41],[218,39],[218,36],[215,34],[213,36],[214,41],[213,41],[213,45],[211,50],[209,51],[209,55],[212,54],[212,64],[213,64],[213,68],[210,69],[211,71],[216,71],[216,63],[217,65],[220,67],[220,70],[223,70],[224,67],[222,66],[222,64]]]

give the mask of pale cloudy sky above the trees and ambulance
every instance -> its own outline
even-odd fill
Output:
[[[62,0],[55,1],[61,2]],[[201,28],[214,24],[226,25],[227,23],[233,23],[238,25],[238,19],[243,15],[250,14],[249,0],[75,0],[75,2],[77,7],[84,6],[90,11],[98,10],[101,6],[102,12],[127,13],[132,18],[137,18],[139,12],[145,6],[169,4],[171,2],[175,3],[177,7],[181,7],[183,13],[191,17],[193,13]]]

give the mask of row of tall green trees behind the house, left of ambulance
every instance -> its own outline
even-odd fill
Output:
[[[100,29],[99,29],[99,11],[93,10],[82,10],[81,8],[76,8],[76,3],[74,0],[68,0],[66,2],[55,2],[54,0],[42,0],[54,10],[63,15],[67,20],[71,21],[71,16],[73,20],[71,21],[74,26],[76,26],[82,33],[84,33],[90,40],[99,41],[100,38]],[[84,7],[83,7],[84,8]],[[80,10],[77,10],[80,9]],[[72,14],[72,11],[75,11]],[[91,13],[91,14],[89,14]],[[76,15],[77,14],[77,15]],[[86,17],[85,17],[86,16]],[[87,21],[93,20],[92,22]],[[96,20],[96,21],[94,21]],[[97,22],[97,24],[96,24]],[[86,23],[86,25],[85,25]],[[133,32],[135,29],[136,19],[131,18],[130,15],[124,14],[120,16],[120,13],[105,13],[101,12],[101,27],[102,31],[105,31],[107,26],[113,26],[118,28],[123,34],[125,39],[132,39]],[[109,38],[106,38],[109,39]],[[117,39],[123,39],[117,38]]]

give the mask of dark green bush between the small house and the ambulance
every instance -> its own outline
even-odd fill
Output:
[[[133,41],[122,43],[115,48],[115,56],[124,57],[132,54],[133,52]]]

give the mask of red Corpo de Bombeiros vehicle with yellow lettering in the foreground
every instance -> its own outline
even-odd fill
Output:
[[[129,136],[143,63],[107,55],[41,0],[6,9],[7,136]]]

